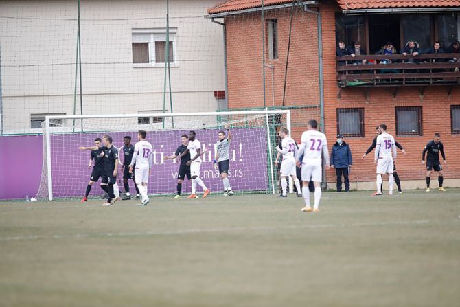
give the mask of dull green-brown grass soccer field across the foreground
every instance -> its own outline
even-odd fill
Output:
[[[460,190],[0,203],[0,306],[459,306]]]

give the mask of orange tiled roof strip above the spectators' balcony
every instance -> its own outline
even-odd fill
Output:
[[[342,10],[369,8],[448,8],[460,6],[460,0],[337,0]]]

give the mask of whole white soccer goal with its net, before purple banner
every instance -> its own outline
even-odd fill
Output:
[[[289,110],[225,111],[207,113],[152,113],[130,115],[67,115],[47,116],[43,122],[43,169],[37,199],[77,198],[91,176],[90,152],[79,146],[93,146],[97,137],[108,134],[113,145],[121,149],[124,137],[137,141],[137,131],[147,131],[147,141],[153,146],[152,174],[148,190],[154,195],[174,194],[179,161],[164,160],[181,145],[181,136],[196,131],[202,145],[201,174],[213,192],[223,190],[218,170],[214,169],[218,132],[229,125],[229,180],[236,193],[275,193],[277,169],[273,165],[281,128],[290,130]],[[120,153],[119,161],[124,157]],[[123,170],[119,167],[117,184],[123,188]],[[130,189],[134,183],[128,180]],[[101,197],[100,182],[93,185],[92,198]],[[187,179],[183,193],[190,191]]]

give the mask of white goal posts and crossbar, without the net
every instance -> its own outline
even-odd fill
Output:
[[[271,186],[272,193],[275,194],[275,179],[273,170],[273,157],[272,145],[270,138],[270,127],[268,122],[268,115],[273,114],[286,114],[286,128],[290,131],[290,110],[255,110],[255,111],[222,111],[222,112],[190,112],[190,113],[146,113],[142,117],[186,117],[186,116],[225,116],[225,115],[265,115],[266,128],[267,128],[267,141],[268,141],[268,157],[271,172]],[[106,115],[48,115],[45,117],[45,148],[46,148],[46,162],[47,162],[47,185],[48,185],[48,200],[53,200],[53,178],[51,168],[51,120],[84,120],[91,118],[132,118],[139,117],[139,114],[106,114]]]

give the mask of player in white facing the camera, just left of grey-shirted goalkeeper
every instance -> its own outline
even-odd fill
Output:
[[[201,143],[196,139],[195,131],[189,132],[189,143],[187,145],[187,150],[181,153],[179,157],[184,157],[190,154],[190,161],[187,161],[187,166],[190,166],[190,174],[192,174],[192,194],[190,194],[187,198],[197,198],[196,197],[196,183],[200,185],[200,187],[205,191],[203,193],[203,198],[205,198],[209,192],[211,192],[200,179],[200,168],[201,168]]]

